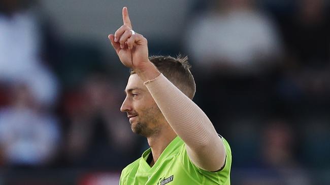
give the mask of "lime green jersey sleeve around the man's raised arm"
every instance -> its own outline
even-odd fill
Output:
[[[222,137],[222,141],[226,150],[226,160],[224,166],[215,172],[203,170],[195,166],[189,159],[185,146],[181,152],[181,162],[184,169],[189,176],[193,176],[201,184],[208,184],[213,182],[215,184],[230,184],[230,168],[232,165],[232,151],[230,150],[228,142]]]

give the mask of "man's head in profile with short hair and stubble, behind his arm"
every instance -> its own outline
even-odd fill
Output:
[[[196,87],[187,57],[153,56],[149,60],[187,97],[193,98]],[[120,110],[127,113],[133,132],[149,137],[169,125],[143,83],[131,70],[125,88],[126,98]]]

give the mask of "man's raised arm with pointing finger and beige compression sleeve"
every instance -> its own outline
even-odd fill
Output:
[[[147,39],[130,31],[132,27],[125,7],[123,22],[124,25],[114,35],[109,35],[120,61],[134,69],[145,81],[162,114],[185,142],[192,163],[204,170],[219,170],[224,165],[226,154],[211,121],[149,61]]]

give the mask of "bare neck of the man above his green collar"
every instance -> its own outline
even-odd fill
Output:
[[[151,148],[153,160],[150,166],[158,160],[160,154],[165,150],[165,148],[174,140],[177,134],[169,126],[168,129],[163,129],[156,136],[147,137],[148,144]]]

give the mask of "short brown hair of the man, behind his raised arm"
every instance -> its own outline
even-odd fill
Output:
[[[149,57],[156,68],[166,76],[176,87],[178,87],[187,97],[192,99],[195,95],[196,84],[190,72],[191,66],[188,57],[177,58],[171,56],[151,56]],[[134,70],[130,74],[135,74]]]

